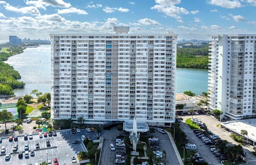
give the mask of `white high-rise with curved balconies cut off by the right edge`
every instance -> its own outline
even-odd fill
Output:
[[[256,117],[256,35],[210,35],[210,110],[222,118]]]

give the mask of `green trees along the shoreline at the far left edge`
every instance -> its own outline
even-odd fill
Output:
[[[3,48],[0,51],[0,94],[13,95],[13,89],[23,88],[25,83],[17,81],[20,74],[12,66],[4,63],[10,56],[20,54],[25,48],[12,47]]]

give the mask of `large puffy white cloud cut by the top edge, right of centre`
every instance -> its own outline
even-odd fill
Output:
[[[155,0],[156,5],[151,7],[150,9],[156,9],[158,12],[163,12],[167,16],[181,19],[182,14],[189,14],[188,10],[185,8],[180,8],[174,6],[175,4],[179,4],[181,0]]]

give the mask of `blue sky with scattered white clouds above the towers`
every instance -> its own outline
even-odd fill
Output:
[[[178,40],[255,34],[256,0],[0,0],[0,40],[50,33],[175,32]]]

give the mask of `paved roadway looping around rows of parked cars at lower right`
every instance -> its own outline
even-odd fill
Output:
[[[227,140],[231,144],[236,144],[236,141],[234,141],[231,137],[229,137],[230,132],[220,129],[216,127],[216,125],[220,124],[220,121],[216,120],[214,117],[210,115],[194,115],[193,117],[196,117],[202,123],[205,123],[207,125],[207,128],[210,129],[213,133],[216,135],[219,135],[219,137],[223,140]],[[192,115],[185,115],[182,116],[183,121],[180,122],[180,127],[182,130],[186,133],[189,143],[196,144],[197,151],[200,153],[200,155],[204,158],[205,161],[210,163],[211,165],[221,165],[220,160],[215,157],[215,155],[209,150],[208,145],[204,145],[204,143],[199,139],[191,130],[188,125],[186,125],[185,121],[188,118],[192,118]],[[255,165],[256,164],[256,158],[251,155],[251,152],[253,151],[252,146],[243,147],[246,154],[246,160],[248,160],[248,165]]]

